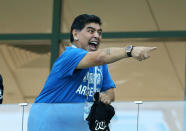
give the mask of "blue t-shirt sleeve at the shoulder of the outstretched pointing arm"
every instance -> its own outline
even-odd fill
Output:
[[[80,48],[67,47],[54,63],[51,73],[59,73],[59,77],[72,76],[77,65],[87,53],[88,51]]]

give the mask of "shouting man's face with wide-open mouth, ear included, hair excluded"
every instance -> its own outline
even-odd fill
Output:
[[[81,31],[77,32],[77,43],[79,48],[87,51],[96,51],[99,48],[101,34],[102,29],[99,24],[86,24]]]

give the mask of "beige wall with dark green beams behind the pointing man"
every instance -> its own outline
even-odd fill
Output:
[[[109,65],[116,101],[184,100],[186,0],[0,0],[4,104],[33,103],[69,44],[73,19],[102,19],[101,48],[156,46],[151,58]]]

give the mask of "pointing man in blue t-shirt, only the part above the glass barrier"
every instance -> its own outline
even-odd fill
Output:
[[[100,100],[110,104],[114,101],[115,84],[107,64],[128,57],[145,60],[149,52],[156,49],[127,46],[99,50],[101,24],[95,15],[83,14],[75,18],[70,32],[72,46],[54,63],[36,103],[93,101],[93,94],[98,91]]]

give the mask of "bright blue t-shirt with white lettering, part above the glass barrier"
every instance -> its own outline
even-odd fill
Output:
[[[115,88],[107,65],[76,69],[87,53],[81,48],[66,47],[54,63],[35,103],[85,102],[87,98],[92,101],[95,91]]]

